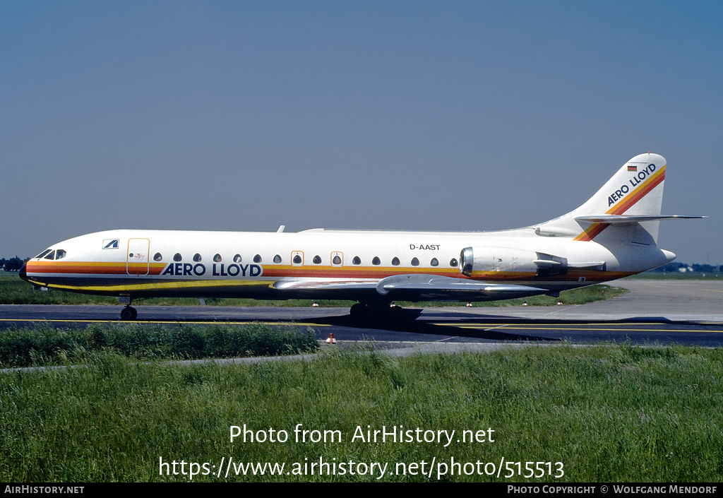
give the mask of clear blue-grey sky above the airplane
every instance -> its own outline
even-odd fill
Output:
[[[112,228],[485,230],[667,159],[723,263],[717,1],[0,0],[0,256]]]

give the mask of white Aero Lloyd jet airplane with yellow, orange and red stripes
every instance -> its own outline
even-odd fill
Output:
[[[20,277],[37,287],[119,297],[353,300],[388,316],[393,301],[487,301],[620,279],[669,263],[658,248],[666,161],[625,162],[589,201],[529,227],[495,232],[192,232],[117,229],[51,245]],[[398,313],[393,311],[392,313]]]

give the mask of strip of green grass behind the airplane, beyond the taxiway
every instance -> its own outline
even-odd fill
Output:
[[[604,290],[604,293],[603,293]],[[472,303],[475,307],[489,306],[515,306],[527,303],[534,306],[552,306],[562,300],[563,304],[583,304],[593,301],[607,299],[623,295],[627,290],[608,285],[593,285],[582,289],[566,290],[560,294],[560,298],[550,296],[534,296],[525,299],[511,299],[504,301],[490,301],[487,303]],[[236,298],[206,298],[205,303],[213,306],[299,306],[308,308],[313,303],[320,306],[333,308],[350,308],[354,301],[348,300],[256,300]],[[0,272],[0,304],[102,304],[118,305],[117,297],[93,296],[78,294],[76,292],[65,292],[61,290],[33,290],[33,286],[24,282],[17,273]],[[150,299],[138,299],[133,305],[198,305],[199,300],[192,297],[153,297]],[[442,306],[459,306],[460,303],[450,302],[408,302],[399,301],[396,304],[416,308],[435,308]]]

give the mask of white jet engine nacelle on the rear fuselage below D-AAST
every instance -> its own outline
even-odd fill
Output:
[[[460,271],[467,277],[479,271],[534,273],[538,277],[562,275],[568,272],[567,258],[538,253],[534,250],[494,246],[463,249],[459,264]]]

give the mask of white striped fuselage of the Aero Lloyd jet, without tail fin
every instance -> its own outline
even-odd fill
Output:
[[[479,269],[463,274],[464,248],[491,248],[497,266],[492,261],[486,266],[482,261]],[[28,261],[25,273],[30,281],[77,292],[130,297],[373,300],[378,297],[373,286],[355,284],[375,284],[387,277],[408,274],[451,277],[461,282],[506,281],[558,292],[617,279],[667,261],[657,248],[650,248],[646,255],[641,255],[641,248],[623,245],[611,250],[596,242],[536,235],[532,227],[456,233],[121,229],[82,235],[49,249],[63,251],[64,257]],[[513,250],[521,254],[510,252]],[[566,260],[567,270],[541,275],[532,263],[537,253]],[[529,258],[525,258],[528,254]],[[519,261],[513,266],[500,266],[497,260]],[[599,264],[590,268],[591,262],[604,262],[604,268]],[[348,283],[346,287],[341,286],[344,282]],[[444,295],[439,298],[456,299]],[[465,295],[460,299],[486,297]]]

